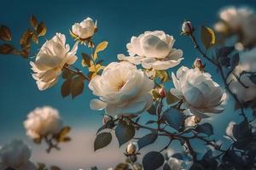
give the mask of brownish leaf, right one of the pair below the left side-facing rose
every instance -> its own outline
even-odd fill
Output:
[[[79,94],[82,94],[84,90],[84,77],[73,78],[70,90],[73,98],[75,98]]]

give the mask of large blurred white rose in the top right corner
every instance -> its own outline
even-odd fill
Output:
[[[219,12],[219,19],[215,31],[232,35],[236,34],[244,46],[256,42],[256,14],[250,8],[224,8]]]

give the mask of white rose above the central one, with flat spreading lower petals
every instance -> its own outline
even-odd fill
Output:
[[[143,68],[166,70],[178,65],[183,58],[181,49],[172,48],[175,39],[164,31],[145,31],[139,37],[131,37],[126,47],[129,57],[119,54],[119,60],[127,60]]]

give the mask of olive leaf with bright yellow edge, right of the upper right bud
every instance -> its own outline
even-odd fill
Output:
[[[205,48],[211,48],[215,42],[216,37],[214,31],[207,26],[201,26],[201,42],[204,44]]]

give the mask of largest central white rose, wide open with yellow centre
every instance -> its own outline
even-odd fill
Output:
[[[89,88],[100,97],[90,101],[90,108],[105,109],[110,116],[139,114],[148,110],[153,102],[150,90],[154,82],[128,62],[110,63],[102,76],[90,81]]]

